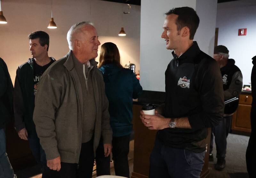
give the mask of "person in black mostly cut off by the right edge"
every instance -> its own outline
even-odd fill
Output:
[[[256,177],[256,56],[252,58],[252,109],[251,109],[251,136],[246,150],[246,166],[250,178]]]

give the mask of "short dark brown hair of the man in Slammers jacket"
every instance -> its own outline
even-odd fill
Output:
[[[170,14],[178,15],[175,22],[178,32],[180,33],[181,28],[187,26],[189,28],[189,39],[193,40],[200,21],[196,11],[191,7],[177,7],[165,13],[165,15]]]

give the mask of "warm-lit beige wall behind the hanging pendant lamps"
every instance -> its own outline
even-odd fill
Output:
[[[7,63],[14,83],[17,67],[31,57],[28,34],[43,30],[50,35],[49,56],[61,58],[68,52],[66,35],[73,24],[90,20],[94,23],[101,44],[114,42],[120,50],[122,64],[129,61],[140,69],[140,6],[100,0],[52,0],[53,18],[57,29],[48,29],[51,0],[4,0],[2,11],[7,24],[0,25],[0,57]],[[121,27],[127,34],[119,37]],[[99,47],[100,52],[100,47]]]

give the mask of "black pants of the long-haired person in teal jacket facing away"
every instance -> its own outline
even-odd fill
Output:
[[[114,161],[115,173],[117,176],[130,177],[128,163],[129,145],[130,135],[113,137],[112,139],[112,156]],[[108,170],[110,170],[110,157],[108,159],[105,159],[104,154],[101,154],[102,149],[103,147],[98,147],[96,152],[97,176],[110,174],[110,172],[108,172]],[[99,155],[98,151],[100,151]]]

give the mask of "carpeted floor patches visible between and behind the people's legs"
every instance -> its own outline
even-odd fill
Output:
[[[226,168],[223,171],[216,171],[214,169],[214,162],[209,162],[210,177],[209,178],[249,178],[246,171],[245,152],[248,145],[248,136],[241,136],[235,134],[229,134],[227,138],[228,148],[226,154]],[[129,152],[129,167],[130,173],[133,171],[133,146],[134,141],[130,142]],[[213,148],[213,155],[216,155],[215,145]],[[111,175],[115,175],[113,163],[111,164]],[[21,170],[16,173],[18,178],[41,178],[40,167],[30,167],[25,170]],[[96,172],[93,172],[93,178],[96,177]]]

